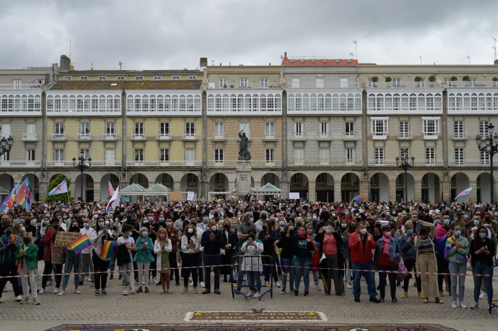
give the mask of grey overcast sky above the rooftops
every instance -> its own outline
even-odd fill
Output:
[[[195,69],[280,56],[493,64],[497,0],[0,0],[0,68]],[[356,58],[356,55],[355,55]]]

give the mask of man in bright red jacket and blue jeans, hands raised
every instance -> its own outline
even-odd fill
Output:
[[[364,221],[358,222],[356,232],[350,234],[349,248],[351,250],[352,267],[355,270],[353,271],[353,295],[355,296],[355,301],[360,302],[360,280],[364,276],[367,282],[370,301],[379,303],[379,300],[375,296],[375,274],[373,271],[372,250],[375,249],[375,241],[373,241],[372,234],[367,232],[367,226]]]

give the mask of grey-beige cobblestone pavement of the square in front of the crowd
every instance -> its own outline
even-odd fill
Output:
[[[312,277],[310,277],[311,283]],[[122,295],[121,280],[117,274],[108,281],[106,296],[95,296],[94,288],[89,282],[80,286],[81,294],[74,293],[73,279],[64,296],[57,296],[47,287],[47,293],[39,295],[41,305],[19,305],[13,301],[11,285],[7,283],[8,292],[3,293],[0,303],[0,331],[44,330],[64,323],[186,323],[187,312],[196,311],[250,311],[251,308],[265,308],[266,311],[319,311],[325,313],[329,324],[334,323],[429,323],[442,324],[456,330],[496,331],[498,330],[498,309],[490,315],[484,300],[476,310],[452,309],[451,296],[445,292],[444,305],[433,302],[423,304],[416,296],[412,286],[408,298],[400,299],[401,287],[396,288],[397,303],[392,303],[386,296],[386,302],[374,304],[369,302],[365,283],[362,281],[362,302],[353,300],[352,289],[346,288],[346,296],[325,296],[323,290],[317,291],[310,285],[310,296],[304,297],[303,284],[300,296],[287,293],[280,295],[280,289],[274,288],[273,298],[265,296],[261,301],[245,300],[242,296],[232,299],[230,283],[221,282],[221,295],[214,293],[194,295],[189,287],[187,294],[181,294],[182,287],[172,284],[173,294],[159,294],[160,286],[150,285],[150,293]],[[498,278],[494,278],[498,288]],[[323,286],[322,286],[323,287]],[[466,278],[465,302],[470,307],[473,302],[473,279]],[[388,288],[386,288],[388,291]],[[388,293],[388,292],[387,292]],[[497,295],[495,295],[497,297]],[[432,299],[434,301],[434,299]]]

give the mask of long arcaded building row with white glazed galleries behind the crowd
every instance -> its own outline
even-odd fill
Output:
[[[451,200],[469,186],[489,201],[490,158],[475,136],[497,122],[494,65],[375,65],[285,57],[277,66],[200,70],[0,70],[0,126],[14,139],[0,186],[26,176],[36,197],[57,174],[74,197],[105,201],[116,187],[162,183],[231,197],[239,133],[251,184],[349,201]],[[92,158],[83,174],[73,157]],[[414,157],[405,175],[396,157]],[[496,189],[495,189],[496,190]],[[498,196],[498,190],[495,192]]]

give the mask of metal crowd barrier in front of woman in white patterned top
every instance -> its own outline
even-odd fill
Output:
[[[258,301],[268,293],[270,298],[273,298],[272,268],[274,265],[275,259],[271,255],[233,256],[231,266],[237,268],[237,279],[232,277],[232,298],[235,298],[235,295],[243,295],[245,299],[248,299],[254,296],[254,293],[260,293]],[[264,268],[269,268],[270,285],[268,286],[263,283],[264,281],[261,281]],[[249,291],[244,291],[244,289]]]

